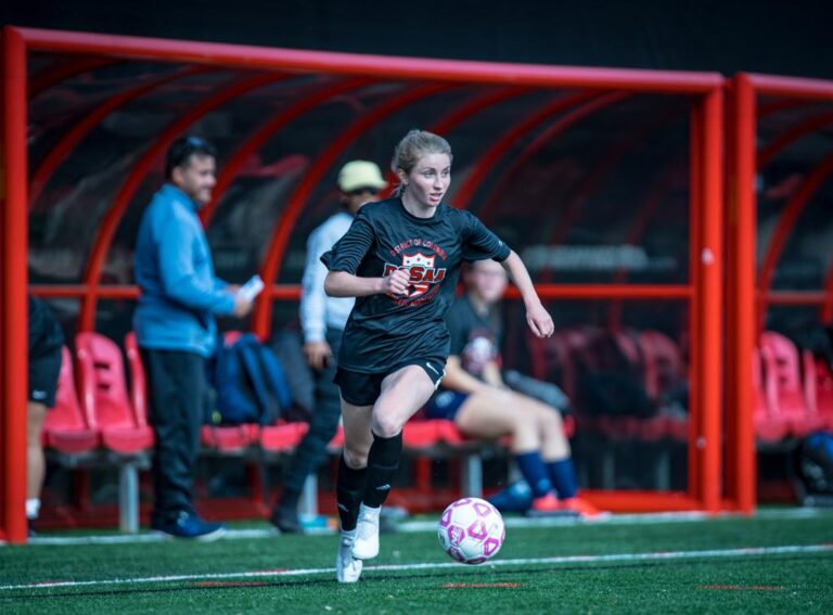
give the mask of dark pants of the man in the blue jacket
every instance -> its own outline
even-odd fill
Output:
[[[195,353],[142,348],[148,377],[149,422],[156,434],[152,524],[194,513],[192,488],[200,446],[206,375]]]

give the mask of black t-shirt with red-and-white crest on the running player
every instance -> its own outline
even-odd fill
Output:
[[[364,205],[350,229],[321,257],[331,271],[381,278],[410,271],[407,297],[357,297],[344,330],[338,366],[382,373],[416,358],[445,362],[445,316],[462,261],[505,260],[509,246],[469,212],[445,204],[432,218],[409,214],[400,198]]]

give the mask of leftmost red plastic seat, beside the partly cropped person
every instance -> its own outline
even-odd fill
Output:
[[[90,428],[78,402],[73,357],[66,346],[61,349],[61,359],[55,407],[43,422],[43,445],[67,454],[90,452],[99,446],[99,432]]]

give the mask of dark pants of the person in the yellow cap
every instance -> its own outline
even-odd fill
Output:
[[[297,498],[307,476],[318,470],[326,454],[326,445],[333,439],[338,428],[342,401],[333,377],[335,376],[335,357],[338,356],[338,348],[342,345],[342,333],[339,329],[326,330],[326,343],[333,350],[333,360],[330,366],[316,373],[316,403],[309,421],[309,431],[295,449],[283,482],[283,488],[290,494],[290,498]]]

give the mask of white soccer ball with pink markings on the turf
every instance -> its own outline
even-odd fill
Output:
[[[482,564],[500,551],[507,529],[498,509],[479,498],[463,498],[448,505],[437,527],[439,544],[453,560]]]

